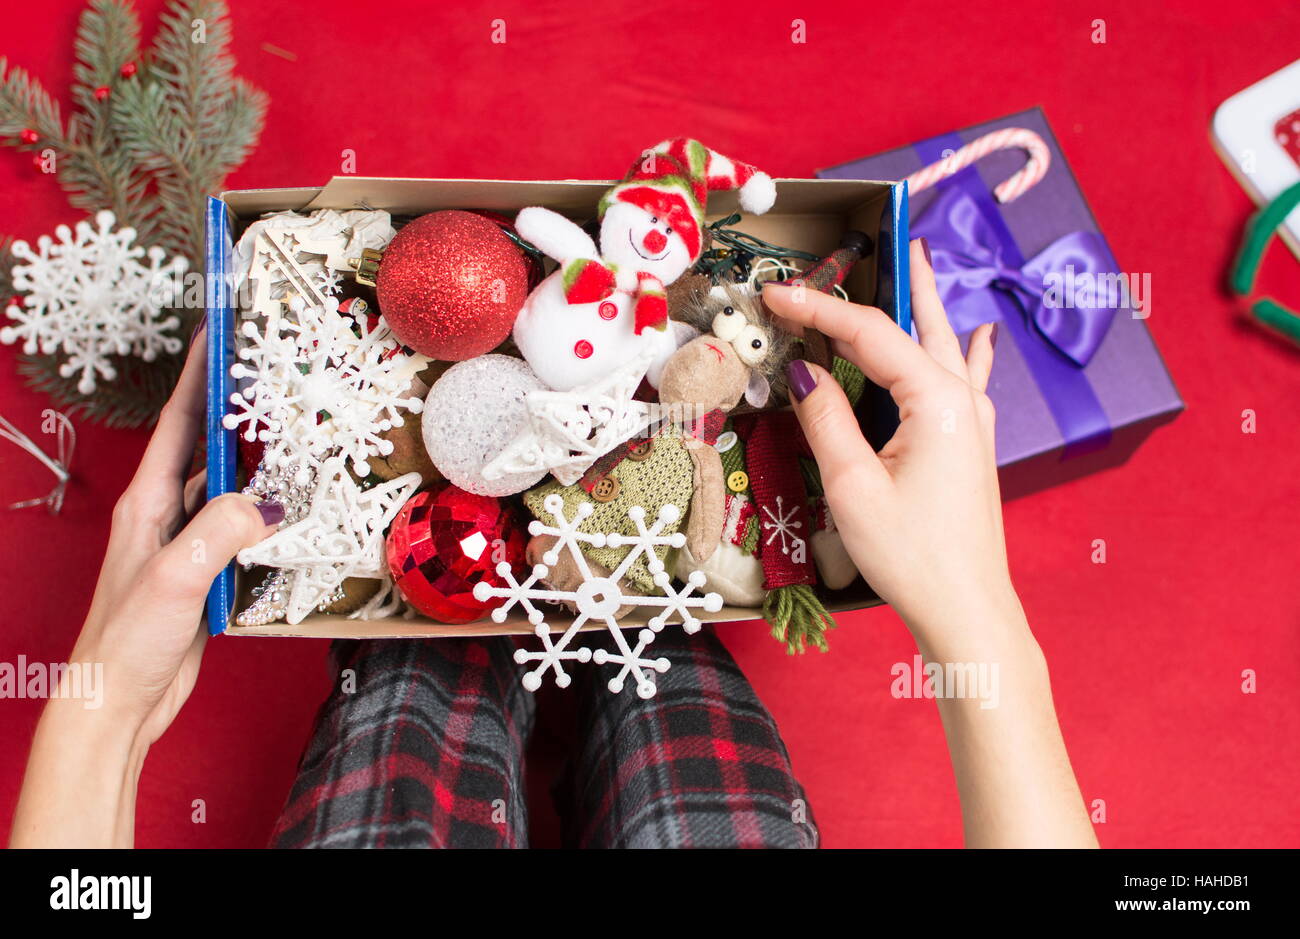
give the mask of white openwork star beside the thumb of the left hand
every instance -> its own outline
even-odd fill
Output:
[[[321,468],[311,509],[269,538],[239,551],[239,563],[286,571],[285,619],[299,623],[329,600],[347,577],[386,576],[384,533],[420,488],[420,473],[407,473],[361,489],[341,456]]]

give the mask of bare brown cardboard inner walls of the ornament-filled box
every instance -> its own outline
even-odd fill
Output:
[[[318,189],[240,190],[220,198],[228,207],[231,235],[238,241],[243,229],[266,212],[283,209],[350,209],[378,208],[393,215],[422,215],[437,209],[494,209],[514,216],[528,205],[546,205],[585,222],[595,216],[595,207],[608,181],[508,181],[508,179],[393,179],[335,177]],[[848,229],[867,231],[876,239],[876,251],[868,261],[859,263],[845,282],[850,298],[874,303],[878,290],[878,263],[883,252],[896,252],[898,245],[881,245],[879,233],[888,230],[887,213],[892,202],[897,211],[898,183],[859,179],[777,179],[776,204],[762,216],[745,215],[736,226],[758,238],[786,247],[826,255],[833,251]],[[740,209],[734,192],[708,196],[707,221],[725,217]],[[904,205],[904,213],[906,205]],[[906,215],[904,215],[904,218]],[[904,284],[904,295],[906,284]],[[906,311],[889,311],[900,321]],[[229,313],[228,313],[229,316]],[[910,324],[906,324],[910,325]],[[229,355],[229,351],[228,351]],[[228,363],[229,365],[229,363]],[[220,420],[220,415],[209,415]],[[230,432],[234,433],[234,432]],[[226,632],[233,636],[300,636],[325,639],[429,637],[525,635],[533,626],[521,615],[510,615],[504,623],[484,619],[448,626],[428,618],[380,620],[348,619],[338,614],[313,614],[295,626],[237,626],[234,616],[250,602],[255,577],[235,568],[235,605],[226,619]],[[707,588],[706,588],[707,589]],[[861,579],[844,590],[826,597],[832,613],[874,606],[881,601]],[[750,607],[724,606],[718,613],[698,611],[706,622],[762,619],[762,611]],[[649,614],[633,611],[619,624],[625,628],[644,626]],[[604,628],[592,623],[588,628]]]

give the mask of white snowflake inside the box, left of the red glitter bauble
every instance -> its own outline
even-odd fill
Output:
[[[244,440],[264,441],[272,468],[295,460],[306,477],[309,467],[318,469],[339,453],[368,476],[370,456],[393,453],[381,434],[402,425],[403,410],[424,408],[411,393],[410,356],[382,319],[358,336],[332,297],[324,303],[295,297],[287,313],[242,329],[243,362],[230,375],[243,384],[230,395],[238,410],[224,424],[243,424]]]

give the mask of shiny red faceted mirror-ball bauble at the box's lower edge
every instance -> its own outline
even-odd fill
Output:
[[[389,529],[389,571],[420,613],[439,623],[469,623],[499,602],[474,600],[474,584],[504,585],[497,564],[521,566],[525,545],[508,502],[448,483],[402,506]]]

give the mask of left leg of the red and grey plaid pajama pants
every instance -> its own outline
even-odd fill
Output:
[[[514,649],[507,639],[334,642],[339,678],[272,845],[528,847],[523,754],[536,704]]]

